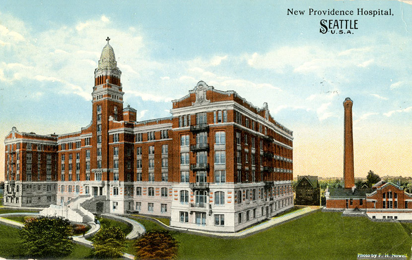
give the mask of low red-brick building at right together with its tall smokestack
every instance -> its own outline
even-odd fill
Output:
[[[354,185],[352,100],[344,107],[343,188],[326,190],[327,209],[360,209],[372,219],[412,220],[412,194],[392,182],[380,181],[372,188]],[[355,211],[356,212],[356,211]]]

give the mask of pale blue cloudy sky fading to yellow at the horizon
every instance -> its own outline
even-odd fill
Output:
[[[323,34],[322,20],[352,24]],[[412,5],[396,0],[5,1],[0,137],[13,126],[64,134],[88,125],[94,69],[110,37],[124,106],[137,120],[170,116],[171,101],[203,80],[269,104],[293,131],[294,176],[342,177],[350,97],[355,177],[412,176],[411,25]],[[0,150],[2,180],[3,142]]]

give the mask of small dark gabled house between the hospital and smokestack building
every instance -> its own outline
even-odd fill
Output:
[[[295,192],[296,205],[320,206],[318,176],[298,176]]]

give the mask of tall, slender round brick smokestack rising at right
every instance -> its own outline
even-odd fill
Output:
[[[355,175],[353,170],[353,132],[352,132],[352,104],[350,98],[343,102],[344,108],[344,157],[343,157],[343,179],[345,189],[355,186]]]

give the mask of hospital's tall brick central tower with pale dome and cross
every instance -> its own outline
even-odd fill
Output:
[[[107,44],[100,55],[99,66],[94,70],[94,87],[92,92],[92,143],[96,149],[91,150],[91,169],[97,180],[107,180],[105,173],[109,168],[109,120],[123,120],[123,95],[115,52]],[[102,176],[103,175],[103,176]]]

